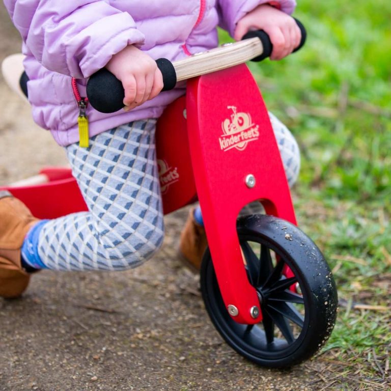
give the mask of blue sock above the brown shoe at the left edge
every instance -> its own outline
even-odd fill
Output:
[[[47,269],[38,254],[38,239],[43,226],[48,221],[49,220],[41,220],[37,222],[37,224],[27,232],[27,235],[24,238],[21,248],[21,262],[22,267],[24,267],[27,272],[31,272],[32,269]]]

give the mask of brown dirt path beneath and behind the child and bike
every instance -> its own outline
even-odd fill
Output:
[[[0,38],[0,60],[20,50],[4,6]],[[66,163],[2,78],[0,113],[0,184]],[[162,251],[138,269],[44,271],[22,298],[0,299],[0,391],[323,389],[321,358],[267,370],[221,340],[177,258],[186,214],[166,216]]]

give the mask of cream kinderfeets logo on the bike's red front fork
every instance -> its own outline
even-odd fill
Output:
[[[236,148],[243,151],[247,144],[259,138],[259,125],[255,125],[248,113],[238,113],[235,106],[227,106],[233,113],[230,119],[225,119],[221,123],[224,134],[219,138],[220,149],[229,151]]]

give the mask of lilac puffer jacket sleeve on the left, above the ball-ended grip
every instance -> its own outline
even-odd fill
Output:
[[[27,49],[45,68],[89,77],[144,35],[133,18],[104,0],[4,0]]]

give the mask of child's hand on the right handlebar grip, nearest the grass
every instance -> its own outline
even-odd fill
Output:
[[[295,20],[267,4],[246,14],[236,25],[234,38],[239,41],[250,30],[263,30],[270,37],[270,60],[281,60],[300,44],[301,32]]]

